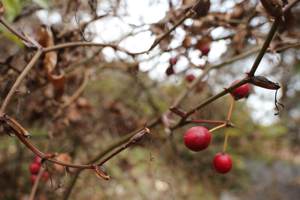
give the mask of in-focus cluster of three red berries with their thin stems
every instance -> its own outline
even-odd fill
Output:
[[[241,79],[236,80],[231,85],[239,82],[240,80]],[[245,85],[242,85],[241,87],[236,88],[235,90],[233,90],[230,94],[232,95],[232,97],[234,98],[234,100],[239,100],[241,98],[246,97],[247,94],[248,94],[248,92],[249,92],[249,84],[246,83]],[[234,100],[232,101],[232,105],[233,105]],[[231,109],[232,109],[232,106],[231,106]],[[230,119],[231,109],[229,111],[230,114],[229,114],[228,119],[227,119],[228,121]],[[217,172],[219,172],[220,174],[226,174],[227,172],[230,171],[230,169],[232,167],[232,160],[231,160],[230,156],[225,153],[227,136],[228,136],[228,128],[229,127],[227,127],[227,132],[226,132],[226,138],[225,138],[225,142],[224,142],[223,152],[218,153],[214,157],[214,160],[213,160],[214,169]],[[195,151],[195,152],[205,150],[206,148],[208,148],[208,146],[209,146],[209,144],[211,142],[211,134],[210,134],[210,132],[212,130],[208,131],[206,128],[200,127],[200,126],[190,128],[184,134],[184,137],[183,137],[184,145],[189,150]]]

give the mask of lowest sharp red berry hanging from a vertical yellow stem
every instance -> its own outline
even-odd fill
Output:
[[[232,160],[226,153],[218,153],[214,157],[214,169],[220,174],[226,174],[232,167]]]

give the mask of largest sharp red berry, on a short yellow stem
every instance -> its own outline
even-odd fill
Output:
[[[209,131],[204,127],[193,127],[183,136],[184,145],[191,151],[203,151],[208,148],[211,141]]]

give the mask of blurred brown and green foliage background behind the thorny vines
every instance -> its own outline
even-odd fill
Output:
[[[74,19],[76,1],[1,2],[6,6],[4,18],[19,32],[34,39],[39,27],[46,22],[51,26],[55,44],[83,40]],[[128,38],[135,37],[141,46],[145,46],[144,50],[149,49],[153,37],[172,27],[193,3],[149,1],[149,7],[162,4],[169,7],[164,19],[150,24],[143,19],[139,19],[140,23],[125,20],[130,16],[127,9],[131,0],[80,1],[77,17],[85,37],[95,42],[125,44],[128,51],[137,52],[134,50],[137,44],[130,43]],[[7,112],[32,135],[29,141],[39,150],[44,152],[49,144],[49,152],[69,153],[72,163],[84,163],[125,134],[166,112],[174,99],[188,87],[188,74],[197,77],[209,64],[219,64],[226,58],[261,45],[270,28],[269,19],[272,17],[259,7],[259,1],[211,1],[209,10],[207,5],[202,7],[206,10],[197,12],[198,16],[191,22],[184,22],[149,55],[132,57],[111,47],[72,47],[57,51],[56,67],[67,74],[62,94],[58,94],[47,80],[40,58],[20,86],[22,93],[15,95]],[[138,5],[136,9],[139,9]],[[112,179],[104,181],[95,172],[83,170],[68,198],[299,199],[299,49],[276,51],[299,43],[299,11],[299,5],[292,9],[289,17],[295,18],[293,23],[286,19],[288,26],[281,27],[276,34],[271,50],[256,73],[280,83],[281,99],[278,101],[285,105],[285,109],[280,115],[273,116],[274,91],[255,86],[251,86],[248,98],[235,102],[231,121],[236,128],[229,130],[226,149],[233,161],[228,174],[220,175],[212,166],[214,156],[223,149],[225,128],[212,132],[209,148],[196,153],[185,148],[184,133],[193,126],[210,130],[216,125],[188,124],[173,130],[172,137],[158,125],[150,129],[153,135],[150,151],[154,162],[149,161],[147,146],[151,138],[146,135],[141,142],[104,164]],[[245,21],[250,16],[251,20]],[[129,24],[130,31],[122,32],[124,24],[114,24],[116,18]],[[97,29],[98,21],[111,23],[107,25],[108,29],[119,28],[119,38],[105,39],[106,36]],[[221,31],[215,34],[217,28]],[[30,61],[33,50],[21,45],[22,42],[3,25],[0,31],[0,95],[3,102],[19,72]],[[143,32],[150,33],[148,38],[138,40],[138,35]],[[111,34],[115,37],[115,33]],[[225,48],[223,52],[217,50],[220,43]],[[201,46],[206,44],[211,48],[208,55],[201,52]],[[242,73],[250,69],[256,55],[211,70],[187,94],[179,108],[187,111],[190,106],[222,91],[222,87],[228,87],[235,79],[245,77]],[[169,58],[174,57],[179,58],[174,66],[175,74],[167,76],[165,70],[170,67]],[[60,108],[61,103],[81,85],[84,72],[89,77],[85,90],[66,108]],[[197,119],[226,120],[231,100],[229,94],[215,100],[197,112]],[[179,117],[173,114],[171,119],[177,121]],[[2,127],[0,129],[0,199],[28,199],[32,189],[29,165],[35,154],[17,138],[7,137]],[[52,163],[49,167],[53,167]],[[74,172],[68,170],[62,188],[55,191],[49,180],[41,181],[35,199],[67,198],[66,191]],[[63,171],[54,170],[53,185],[61,183],[63,178]]]

